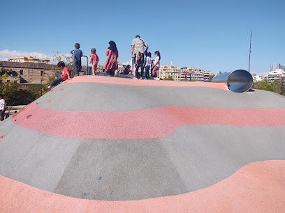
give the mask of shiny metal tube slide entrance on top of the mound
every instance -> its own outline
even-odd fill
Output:
[[[244,93],[251,88],[254,79],[246,70],[235,70],[233,72],[216,75],[212,79],[212,82],[224,83],[228,85],[229,90],[235,93]]]

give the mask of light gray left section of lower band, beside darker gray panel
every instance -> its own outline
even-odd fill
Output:
[[[46,191],[57,187],[81,141],[25,129],[11,117],[0,130],[0,175]]]

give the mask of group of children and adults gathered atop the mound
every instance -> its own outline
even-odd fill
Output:
[[[71,50],[71,54],[74,57],[74,74],[75,76],[79,76],[81,71],[81,57],[82,51],[80,49],[80,44],[75,43],[75,49]],[[146,48],[145,48],[146,47]],[[154,63],[152,63],[152,54],[147,52],[149,46],[147,42],[140,38],[140,36],[136,36],[131,42],[131,57],[132,57],[132,65],[133,65],[133,74],[134,79],[156,79],[159,80],[159,65],[161,60],[161,55],[159,51],[154,52],[156,56]],[[133,54],[134,53],[134,54]],[[114,41],[109,42],[109,47],[106,51],[107,59],[103,66],[103,72],[108,72],[111,76],[115,75],[115,70],[118,70],[118,63],[117,58],[119,57],[119,52]],[[146,57],[145,57],[146,56]],[[92,75],[97,75],[97,66],[98,66],[98,55],[96,54],[96,49],[92,48],[90,51],[90,61],[89,63],[92,64]],[[57,86],[57,84],[71,78],[71,73],[66,68],[65,63],[63,61],[59,61],[57,66],[62,70],[62,74],[55,73],[53,79],[50,82],[50,86],[45,88],[45,90],[50,90],[53,86]],[[124,74],[129,74],[130,65],[128,65],[124,71]],[[145,70],[145,72],[144,72]],[[151,73],[149,74],[149,71]],[[145,75],[144,75],[145,73]]]

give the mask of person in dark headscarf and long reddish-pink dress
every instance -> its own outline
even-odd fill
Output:
[[[112,40],[109,42],[109,47],[106,51],[107,60],[103,67],[104,70],[108,70],[107,72],[114,76],[115,70],[117,70],[117,58],[119,56],[119,52],[116,47],[116,43]]]

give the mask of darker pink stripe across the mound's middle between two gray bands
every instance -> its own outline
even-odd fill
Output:
[[[58,136],[84,139],[153,139],[183,125],[283,126],[284,108],[156,107],[139,111],[58,111],[29,104],[13,123]]]

